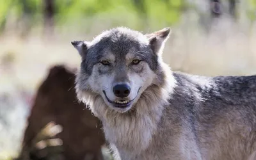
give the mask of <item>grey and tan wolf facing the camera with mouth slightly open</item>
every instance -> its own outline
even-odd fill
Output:
[[[77,99],[103,124],[116,159],[255,159],[256,76],[173,72],[171,29],[125,27],[71,44],[81,56]]]

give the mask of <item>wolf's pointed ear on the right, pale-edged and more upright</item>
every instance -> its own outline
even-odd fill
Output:
[[[154,33],[146,34],[151,49],[155,54],[161,54],[166,40],[169,38],[171,28],[164,28]]]

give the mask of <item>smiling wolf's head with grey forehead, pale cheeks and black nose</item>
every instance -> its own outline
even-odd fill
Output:
[[[161,53],[169,35],[170,28],[147,35],[128,28],[114,28],[92,42],[73,41],[82,58],[76,79],[77,92],[103,99],[102,102],[118,112],[128,111],[149,86],[164,85]]]

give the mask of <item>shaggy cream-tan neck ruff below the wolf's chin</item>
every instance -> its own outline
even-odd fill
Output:
[[[167,70],[168,72],[168,70]],[[165,84],[149,86],[141,94],[133,112],[116,113],[106,107],[101,115],[106,139],[118,149],[130,154],[140,153],[150,145],[157,132],[157,124],[163,115],[163,109],[175,87],[172,72],[167,73]]]

